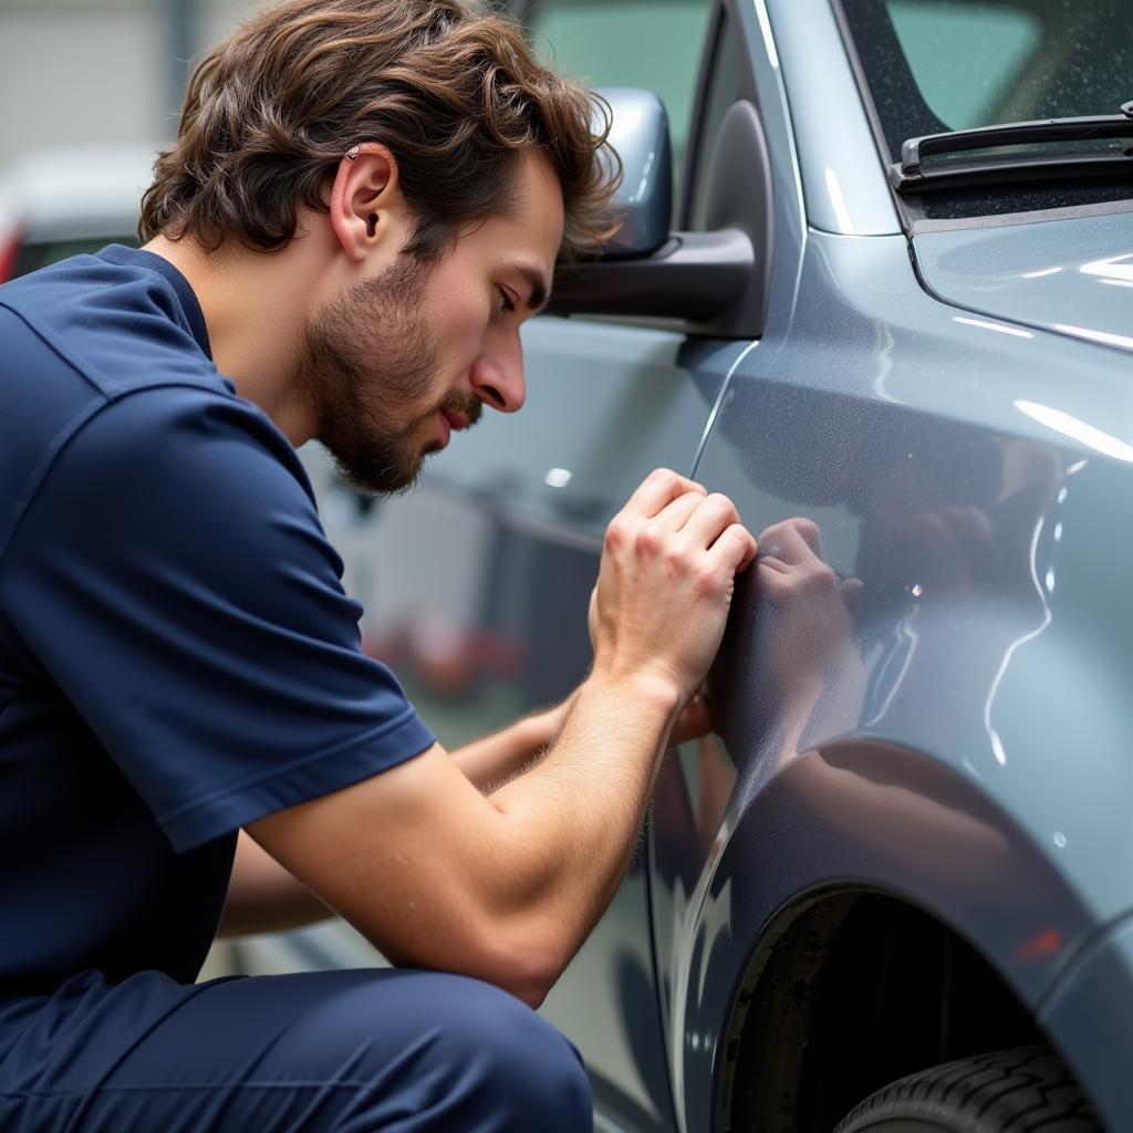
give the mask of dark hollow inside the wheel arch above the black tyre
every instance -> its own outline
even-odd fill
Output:
[[[736,989],[716,1127],[826,1131],[909,1073],[1049,1041],[949,926],[878,889],[824,888],[780,912]]]

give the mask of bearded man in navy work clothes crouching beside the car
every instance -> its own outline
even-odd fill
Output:
[[[590,675],[450,755],[361,653],[292,445],[394,491],[520,408],[519,326],[608,231],[590,120],[457,0],[291,0],[196,71],[145,249],[0,291],[0,1127],[588,1127],[527,1005],[704,724],[753,540],[648,477]],[[399,966],[194,985],[241,828],[233,923],[314,894]]]

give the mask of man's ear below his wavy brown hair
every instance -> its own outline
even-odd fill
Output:
[[[404,201],[398,180],[398,161],[378,142],[351,146],[339,162],[331,186],[331,225],[342,250],[360,263],[375,248],[400,247]]]

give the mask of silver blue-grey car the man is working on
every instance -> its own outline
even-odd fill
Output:
[[[518,421],[372,509],[316,471],[449,744],[583,675],[651,468],[761,533],[717,734],[544,1008],[599,1128],[1133,1130],[1128,0],[519,15],[614,88],[623,236],[525,331]]]

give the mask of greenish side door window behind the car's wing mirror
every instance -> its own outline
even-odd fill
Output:
[[[527,16],[536,50],[594,86],[655,91],[668,112],[680,178],[712,0],[543,0]]]

